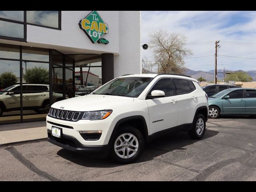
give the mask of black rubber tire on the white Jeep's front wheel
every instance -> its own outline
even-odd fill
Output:
[[[132,144],[127,142],[127,140],[126,141],[123,140],[124,142],[126,142],[125,144],[121,143],[120,140],[118,140],[118,138],[119,138],[119,136],[121,136],[122,134],[125,134],[125,133],[132,134],[133,136],[136,137],[137,140],[134,139]],[[127,136],[126,139],[129,138],[128,135],[124,135],[124,136],[125,136],[125,138]],[[133,138],[134,137],[130,137],[129,141],[132,141]],[[123,139],[123,137],[121,139]],[[136,148],[134,148],[133,146],[134,146],[134,144],[137,144],[137,143],[138,143],[138,149],[136,150]],[[115,147],[114,147],[115,144],[118,144],[118,146],[120,145],[120,147],[118,147],[116,149],[118,149],[118,150],[122,150],[123,149],[125,151],[125,155],[124,156],[127,157],[127,152],[128,152],[128,158],[121,158],[120,157],[120,156],[123,156],[123,151],[115,152]],[[116,135],[114,136],[114,139],[111,142],[111,145],[110,145],[110,157],[112,158],[112,160],[114,160],[114,161],[116,161],[116,162],[118,162],[120,164],[132,163],[132,162],[134,162],[140,156],[140,154],[142,153],[142,151],[144,149],[144,145],[145,145],[144,144],[144,138],[143,138],[142,134],[140,133],[140,131],[138,129],[136,129],[136,128],[132,127],[132,126],[124,126],[120,130],[117,131]],[[136,150],[136,152],[134,153],[134,151],[132,151],[132,150]],[[120,156],[118,156],[117,153]],[[131,157],[129,158],[129,156],[131,156]]]

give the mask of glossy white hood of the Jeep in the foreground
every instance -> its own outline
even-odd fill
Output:
[[[70,111],[96,111],[110,109],[108,108],[110,106],[113,107],[133,101],[134,98],[132,97],[89,94],[85,96],[58,101],[52,104],[51,107]]]

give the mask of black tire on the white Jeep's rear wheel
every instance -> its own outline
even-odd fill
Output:
[[[202,122],[201,122],[201,120],[202,120]],[[197,124],[199,125],[199,127],[197,127]],[[204,127],[200,128],[200,125],[202,126],[202,124],[204,125]],[[199,130],[199,132],[198,132],[198,130]],[[205,130],[206,130],[205,118],[202,114],[197,114],[197,116],[193,122],[192,130],[188,131],[188,135],[192,139],[201,139],[204,136]]]

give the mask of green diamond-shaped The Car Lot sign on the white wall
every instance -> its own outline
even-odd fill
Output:
[[[106,24],[97,11],[92,11],[78,23],[92,43],[108,44],[108,40],[101,38],[108,33],[108,24]]]

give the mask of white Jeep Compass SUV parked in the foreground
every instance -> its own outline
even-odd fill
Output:
[[[202,138],[207,119],[208,99],[197,80],[133,74],[52,104],[46,121],[49,142],[130,163],[156,136],[188,131],[191,138]]]

